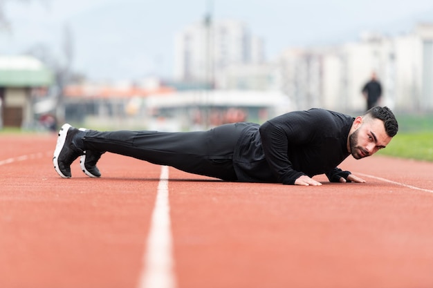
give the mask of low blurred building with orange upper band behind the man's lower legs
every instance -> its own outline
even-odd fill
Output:
[[[119,83],[70,84],[64,87],[66,122],[104,128],[145,127],[145,99],[164,95],[174,89],[158,79]]]

